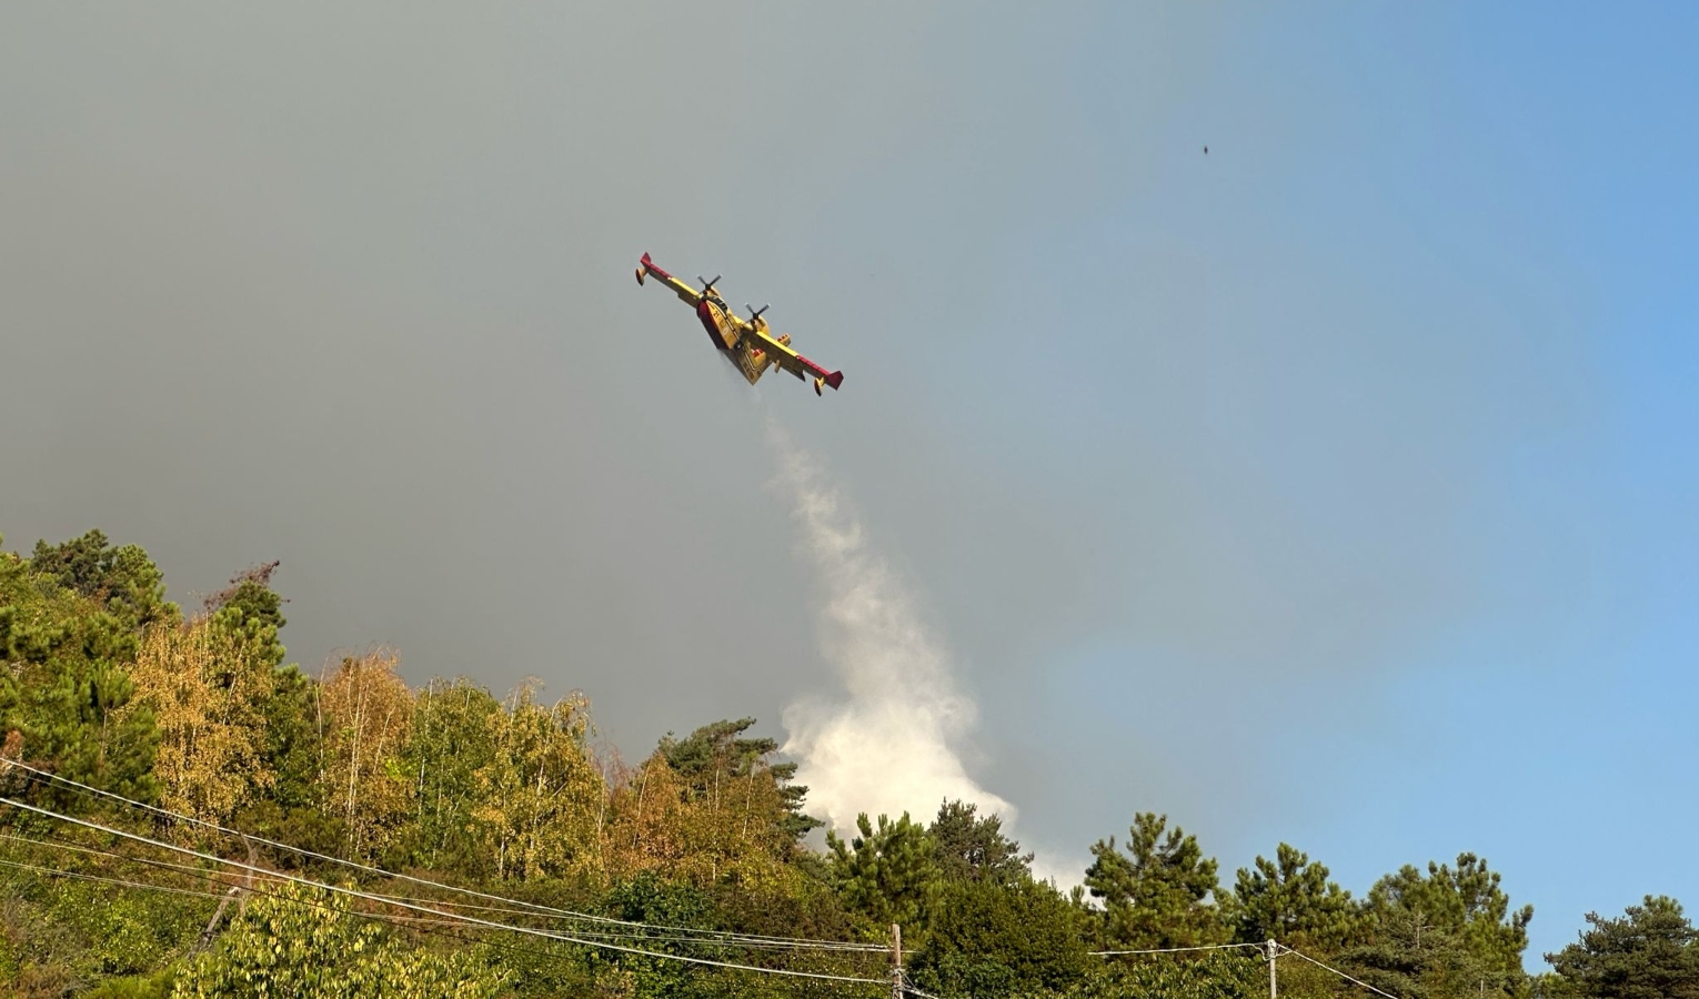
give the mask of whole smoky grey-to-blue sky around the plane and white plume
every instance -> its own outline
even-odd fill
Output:
[[[785,737],[855,683],[776,421],[1053,868],[1135,810],[1228,880],[1471,849],[1538,967],[1699,906],[1696,44],[1677,3],[5,5],[0,532],[185,601],[282,559],[304,666],[533,674],[627,756]],[[646,250],[843,391],[742,386]]]

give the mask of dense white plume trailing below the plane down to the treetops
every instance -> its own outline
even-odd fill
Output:
[[[855,827],[858,812],[928,822],[945,799],[1013,824],[1016,809],[982,788],[953,748],[977,710],[951,674],[950,652],[921,622],[912,593],[868,545],[865,530],[819,462],[776,425],[776,486],[793,506],[800,549],[821,588],[821,647],[846,698],[804,698],[783,712],[783,751],[809,787],[809,812]]]

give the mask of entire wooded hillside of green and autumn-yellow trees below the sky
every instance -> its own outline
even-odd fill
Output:
[[[1532,907],[1471,853],[1352,897],[1281,843],[1227,883],[1196,836],[1137,812],[1062,890],[963,802],[929,821],[861,816],[819,848],[807,788],[754,719],[669,734],[629,765],[593,748],[576,693],[415,688],[387,649],[314,676],[285,663],[275,569],[183,612],[143,549],[100,532],[0,552],[0,756],[29,768],[0,768],[0,797],[19,802],[0,805],[0,989],[873,996],[885,987],[841,979],[883,979],[872,945],[900,924],[907,980],[941,997],[1264,996],[1257,945],[1276,940],[1313,958],[1278,963],[1295,997],[1368,994],[1337,970],[1407,999],[1699,999],[1699,940],[1667,897],[1589,914],[1548,972],[1526,974]],[[372,902],[398,890],[382,872],[416,878],[401,882],[413,900],[447,904],[421,887],[445,883],[523,906],[486,904],[500,923],[600,921],[467,933]]]

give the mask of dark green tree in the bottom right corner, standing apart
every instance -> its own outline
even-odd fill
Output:
[[[1553,999],[1699,999],[1699,931],[1667,895],[1624,916],[1587,914],[1580,940],[1548,953]]]

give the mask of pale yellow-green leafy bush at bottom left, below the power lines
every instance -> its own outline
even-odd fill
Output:
[[[477,950],[409,945],[355,916],[343,895],[279,885],[253,899],[214,950],[183,965],[175,999],[314,996],[494,997],[503,975]]]

